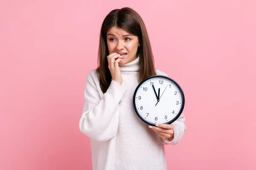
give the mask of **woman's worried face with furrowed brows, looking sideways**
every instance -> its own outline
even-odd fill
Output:
[[[132,62],[137,58],[139,39],[122,28],[114,26],[108,30],[107,44],[109,54],[116,52],[124,56],[123,60],[119,62],[120,65]]]

